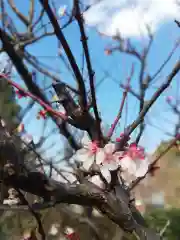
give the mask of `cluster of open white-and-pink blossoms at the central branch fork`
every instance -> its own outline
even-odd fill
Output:
[[[136,178],[144,176],[148,171],[149,160],[143,147],[136,143],[131,143],[124,151],[118,151],[116,142],[109,142],[101,148],[97,142],[92,142],[87,135],[84,135],[82,146],[76,152],[75,160],[82,164],[85,171],[89,171],[94,163],[97,164],[107,183],[111,182],[111,172],[115,170],[120,173],[127,185]],[[93,176],[90,180],[103,188],[104,184],[99,175]]]

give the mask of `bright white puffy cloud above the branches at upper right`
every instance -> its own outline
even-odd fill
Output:
[[[140,37],[147,35],[147,25],[155,32],[161,24],[178,18],[179,12],[177,0],[102,0],[84,17],[87,25],[107,35],[118,31],[124,37]]]

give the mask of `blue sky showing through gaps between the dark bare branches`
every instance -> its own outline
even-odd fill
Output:
[[[117,0],[115,2],[117,2]],[[135,2],[138,2],[138,1],[135,1]],[[66,1],[65,0],[61,1],[61,3],[63,5],[66,3]],[[28,6],[27,1],[21,1],[21,2],[17,1],[17,4],[19,5],[19,9],[23,9],[23,12],[27,10],[27,6]],[[162,8],[163,8],[163,5],[162,5]],[[151,12],[153,12],[152,9],[151,9]],[[94,13],[96,13],[95,10],[94,10]],[[164,11],[163,14],[167,14],[166,11]],[[173,12],[171,17],[162,18],[161,20],[159,20],[159,22],[156,21],[155,23],[153,23],[155,39],[154,39],[154,44],[152,45],[152,48],[148,57],[148,62],[147,62],[147,70],[151,74],[155,73],[156,70],[159,68],[159,66],[162,64],[162,62],[167,58],[169,52],[174,46],[175,41],[179,37],[179,29],[177,28],[176,24],[173,22],[173,16],[176,16],[175,14],[176,13]],[[129,17],[129,15],[127,16]],[[92,14],[89,14],[89,18],[91,17],[93,18],[94,16],[92,16]],[[66,19],[62,19],[61,21],[63,22],[65,20]],[[122,99],[122,90],[119,87],[119,83],[124,82],[128,74],[130,74],[130,68],[132,63],[135,64],[135,69],[136,69],[135,75],[132,79],[132,86],[136,91],[138,91],[137,76],[139,71],[139,63],[133,57],[120,54],[119,52],[113,53],[111,56],[106,56],[104,54],[104,48],[107,46],[109,47],[112,44],[115,44],[115,42],[112,41],[110,37],[101,37],[96,30],[99,27],[98,21],[96,22],[97,25],[94,22],[92,24],[92,22],[93,21],[90,21],[90,20],[88,22],[87,20],[87,23],[89,23],[90,25],[90,26],[87,26],[87,35],[89,37],[88,44],[90,48],[93,68],[96,73],[96,82],[99,82],[104,77],[105,72],[108,72],[109,75],[111,76],[105,79],[103,83],[98,87],[97,101],[98,101],[99,110],[101,112],[101,116],[103,119],[103,123],[111,124],[114,118],[116,117],[116,114]],[[124,20],[124,22],[126,22],[126,19]],[[100,29],[104,29],[104,31],[111,33],[112,25],[109,25],[111,26],[111,31],[109,31],[108,24],[109,22],[107,22],[105,26],[102,26],[102,23],[101,23]],[[129,25],[127,25],[127,27],[130,26],[130,23],[128,24]],[[115,26],[117,26],[117,23],[115,24]],[[23,27],[19,25],[19,29],[23,30]],[[141,49],[142,46],[144,46],[147,42],[146,33],[144,32],[142,36],[142,33],[138,35],[136,30],[133,30],[133,31],[132,31],[133,34],[130,34],[128,31],[124,31],[124,36],[128,36],[133,41],[137,49]],[[79,30],[77,25],[75,23],[72,24],[70,27],[64,30],[64,33],[70,44],[71,50],[76,57],[78,64],[81,65],[82,64],[82,47],[80,43],[80,35],[79,35]],[[30,47],[29,51],[33,55],[38,56],[39,57],[38,59],[41,62],[55,69],[57,72],[60,72],[58,75],[61,77],[63,81],[68,82],[69,84],[72,84],[73,86],[75,86],[75,81],[73,80],[73,78],[71,77],[67,69],[65,69],[62,62],[60,62],[56,58],[57,56],[56,38],[54,37],[46,38],[45,40],[39,42],[38,44],[33,45],[33,47]],[[154,87],[158,87],[160,83],[162,83],[162,81],[171,71],[172,67],[174,66],[177,59],[179,59],[179,57],[180,57],[180,48],[176,50],[176,53],[173,55],[172,59],[169,61],[166,68],[162,71],[161,75],[158,76],[159,78],[157,78],[154,85],[148,91],[148,94],[146,96],[147,100],[155,91]],[[16,77],[15,80],[19,82],[19,78]],[[141,139],[141,144],[146,148],[148,152],[152,152],[162,140],[167,139],[167,135],[164,134],[163,131],[172,132],[173,130],[173,124],[175,123],[176,118],[174,115],[171,114],[171,111],[169,111],[169,107],[165,101],[165,97],[167,95],[175,94],[176,88],[177,88],[177,82],[179,81],[180,81],[180,74],[176,78],[174,78],[171,88],[168,91],[164,92],[162,97],[157,101],[155,106],[151,109],[150,113],[148,114],[148,120],[154,125],[162,129],[162,130],[158,130],[152,126],[147,127],[144,133],[144,136]],[[41,75],[38,76],[37,82],[40,86],[42,86],[43,78]],[[88,85],[88,79],[86,80],[86,82]],[[45,84],[48,85],[49,83],[50,81],[47,79]],[[22,105],[26,104],[26,100],[21,100],[20,104]],[[131,123],[137,117],[138,101],[131,95],[128,96],[127,108],[128,108],[128,112],[127,114],[125,114],[125,111],[124,111],[122,120],[120,122],[120,126],[117,128],[116,135],[119,135],[120,132],[123,131],[124,126]],[[26,124],[28,123],[27,130],[30,133],[32,133],[35,141],[38,140],[39,135],[42,133],[42,127],[43,127],[43,120],[38,121],[35,117],[35,114],[39,109],[40,107],[36,105],[33,108],[33,110],[29,114],[27,114],[24,120]],[[34,115],[33,118],[32,118],[32,115]],[[50,123],[49,121],[46,133],[50,131],[52,127],[53,127],[52,123]],[[135,136],[135,134],[137,134],[137,131],[134,132],[133,136]],[[56,143],[56,144],[54,143],[54,148],[51,148],[51,151],[50,151],[51,153],[49,152],[48,155],[49,154],[53,155],[54,149],[57,149],[58,140],[59,140],[58,135],[56,137],[53,136],[53,138],[50,138],[48,140],[49,145],[54,142]],[[58,141],[58,147],[59,145],[60,144]]]

